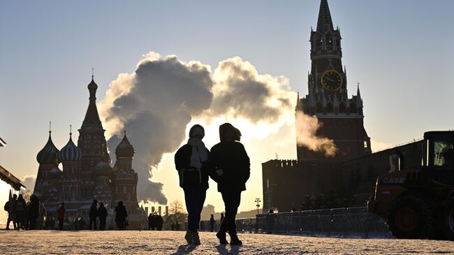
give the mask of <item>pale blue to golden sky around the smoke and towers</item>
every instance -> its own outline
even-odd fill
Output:
[[[342,34],[349,94],[356,93],[360,82],[372,149],[422,138],[424,131],[454,129],[454,1],[328,3],[333,24]],[[59,148],[68,140],[70,124],[80,128],[91,68],[100,102],[111,82],[120,73],[134,73],[148,52],[162,59],[175,55],[184,63],[198,61],[213,72],[221,61],[240,57],[258,75],[285,78],[289,92],[304,96],[309,33],[316,27],[319,4],[319,0],[0,1],[0,137],[7,143],[0,148],[1,166],[22,179],[36,175],[36,154],[47,141],[48,122],[52,121],[52,138]],[[190,124],[207,125],[207,147],[218,142],[221,121],[242,129],[251,179],[240,210],[251,210],[254,198],[262,197],[261,163],[276,154],[279,159],[295,159],[295,131],[286,121],[267,129],[272,123],[242,126],[241,120],[228,116],[212,123],[198,116]],[[153,173],[152,180],[163,183],[169,203],[183,201],[172,152]],[[223,210],[215,184],[210,182],[210,187],[205,205]],[[2,204],[7,191],[1,182]]]

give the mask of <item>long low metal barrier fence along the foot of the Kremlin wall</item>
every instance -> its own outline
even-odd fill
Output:
[[[276,233],[295,235],[391,237],[381,217],[367,212],[366,207],[308,210],[257,214],[256,218],[237,219],[237,231],[243,233]],[[210,221],[200,224],[210,231]],[[215,227],[217,231],[219,224]]]

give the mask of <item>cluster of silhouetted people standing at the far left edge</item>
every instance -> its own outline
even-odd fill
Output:
[[[31,195],[30,201],[25,201],[22,194],[19,196],[14,194],[6,201],[3,209],[8,212],[7,230],[11,229],[11,223],[13,223],[13,229],[17,231],[44,228],[46,209],[36,195]]]

